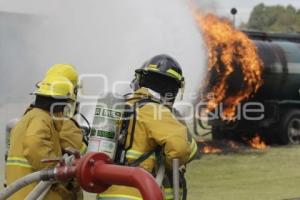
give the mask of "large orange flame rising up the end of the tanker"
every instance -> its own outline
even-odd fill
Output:
[[[228,20],[212,14],[202,15],[200,12],[196,12],[195,17],[208,48],[210,75],[204,86],[206,111],[213,111],[222,103],[221,117],[234,120],[237,105],[262,85],[262,61],[257,55],[255,44]],[[236,79],[233,75],[237,72],[242,78],[241,83],[236,84],[239,90],[233,92],[229,80]],[[209,98],[209,94],[214,94],[214,98]]]

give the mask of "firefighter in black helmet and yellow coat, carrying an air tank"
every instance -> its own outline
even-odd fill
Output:
[[[172,159],[179,159],[180,165],[192,160],[197,152],[196,142],[189,137],[187,127],[172,113],[175,97],[184,86],[182,70],[177,61],[167,55],[153,57],[136,70],[132,86],[135,92],[127,97],[127,102],[131,105],[144,103],[136,106],[136,120],[131,118],[129,122],[125,144],[126,164],[131,165],[145,153],[153,152],[138,166],[155,173],[161,160],[155,149],[161,149],[160,152],[164,154],[167,170],[172,167]],[[113,185],[98,194],[97,199],[142,200],[142,197],[135,188]],[[172,188],[165,188],[165,199],[173,199]]]

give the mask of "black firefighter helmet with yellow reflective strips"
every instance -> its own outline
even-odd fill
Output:
[[[148,72],[158,73],[174,79],[178,83],[178,88],[184,87],[184,77],[178,62],[168,55],[157,55],[146,62],[140,69],[135,70],[137,74],[147,74]]]

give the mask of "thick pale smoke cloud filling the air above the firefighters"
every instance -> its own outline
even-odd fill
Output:
[[[192,101],[201,86],[205,49],[185,1],[0,2],[1,132],[24,112],[32,100],[28,94],[54,63],[72,63],[81,74],[104,74],[111,89],[115,81],[130,81],[146,59],[166,53],[183,67],[184,101]],[[85,88],[98,94],[102,87],[86,80]],[[0,141],[3,149],[3,133]]]

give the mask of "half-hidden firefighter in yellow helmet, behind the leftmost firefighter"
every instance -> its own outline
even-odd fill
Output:
[[[77,92],[81,88],[78,83],[78,73],[71,64],[55,64],[50,67],[45,76],[64,76],[72,82],[74,94],[77,98]],[[77,104],[71,104],[69,110],[70,119],[64,120],[60,131],[60,145],[62,149],[72,148],[80,151],[81,154],[86,152],[87,146],[83,142],[82,131],[74,119],[73,115],[77,112]]]

